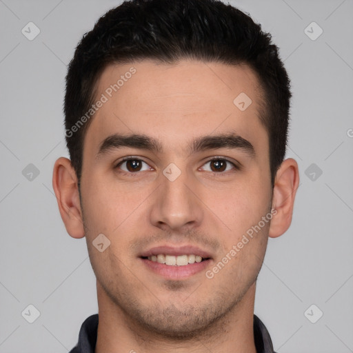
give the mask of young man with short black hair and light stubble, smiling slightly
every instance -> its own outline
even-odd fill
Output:
[[[256,278],[299,172],[270,34],[220,1],[125,1],[66,82],[53,187],[99,304],[71,352],[273,352]]]

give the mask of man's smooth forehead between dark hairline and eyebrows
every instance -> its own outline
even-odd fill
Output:
[[[97,83],[85,142],[98,148],[114,132],[147,134],[178,146],[188,137],[234,130],[247,139],[267,134],[259,119],[262,90],[248,65],[143,60],[110,65]],[[189,139],[188,139],[189,140]],[[256,143],[255,143],[256,144]]]

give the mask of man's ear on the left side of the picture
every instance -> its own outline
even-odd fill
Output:
[[[61,219],[72,238],[85,236],[77,176],[70,159],[61,157],[54,165],[52,188],[57,196]]]

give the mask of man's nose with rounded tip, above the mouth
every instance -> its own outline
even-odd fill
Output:
[[[165,175],[161,175],[161,186],[154,194],[151,223],[174,232],[185,232],[198,227],[203,220],[204,210],[200,196],[197,195],[196,181],[185,171],[175,180]]]

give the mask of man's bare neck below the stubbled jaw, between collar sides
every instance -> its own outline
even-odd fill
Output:
[[[95,353],[256,353],[255,283],[228,314],[191,338],[166,338],[151,332],[121,310],[97,283],[99,325]]]

